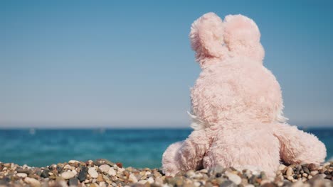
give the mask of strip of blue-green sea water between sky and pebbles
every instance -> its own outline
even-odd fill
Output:
[[[333,128],[308,129],[333,157]],[[0,162],[47,166],[70,159],[109,159],[125,166],[160,167],[162,154],[191,129],[0,130]],[[311,151],[311,150],[310,150]]]

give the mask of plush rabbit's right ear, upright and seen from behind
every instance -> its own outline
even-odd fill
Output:
[[[260,31],[255,22],[242,15],[224,18],[224,42],[234,56],[246,56],[262,62],[265,56],[260,44]]]

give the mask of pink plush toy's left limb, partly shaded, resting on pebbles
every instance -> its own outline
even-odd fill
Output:
[[[174,176],[179,171],[199,169],[208,147],[205,130],[194,130],[186,140],[176,142],[166,149],[162,158],[164,173]]]

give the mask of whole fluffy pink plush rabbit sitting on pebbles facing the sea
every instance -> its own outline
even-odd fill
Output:
[[[322,142],[285,123],[280,85],[263,66],[254,21],[206,13],[192,24],[190,38],[202,69],[191,89],[194,131],[164,152],[166,175],[221,165],[273,176],[281,161],[324,162]]]

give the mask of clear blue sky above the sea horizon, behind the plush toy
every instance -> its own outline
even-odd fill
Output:
[[[291,124],[333,126],[333,1],[0,1],[0,128],[188,127],[191,23],[258,24]]]

